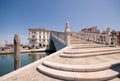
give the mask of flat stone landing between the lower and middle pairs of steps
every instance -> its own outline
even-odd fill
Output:
[[[60,55],[60,54],[59,54]],[[89,64],[99,64],[104,62],[110,62],[115,60],[120,60],[120,54],[108,54],[101,56],[93,56],[93,57],[83,57],[83,58],[63,58],[59,55],[48,59],[48,61],[62,63],[62,64],[72,64],[72,65],[89,65]]]

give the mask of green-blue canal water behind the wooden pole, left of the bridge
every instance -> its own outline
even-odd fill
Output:
[[[41,59],[50,54],[49,52],[36,52],[36,53],[22,53],[21,67],[30,64],[38,59]],[[14,55],[2,54],[0,55],[0,76],[3,76],[14,70]]]

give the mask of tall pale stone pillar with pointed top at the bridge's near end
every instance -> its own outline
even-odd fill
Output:
[[[65,42],[67,46],[70,45],[70,27],[68,21],[66,22],[65,25]]]

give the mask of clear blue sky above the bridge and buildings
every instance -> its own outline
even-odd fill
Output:
[[[28,43],[29,28],[71,31],[97,26],[120,30],[120,0],[0,0],[0,43],[19,34]]]

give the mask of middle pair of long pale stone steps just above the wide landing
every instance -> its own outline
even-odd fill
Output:
[[[107,55],[107,54],[120,54],[120,49],[102,49],[102,50],[91,50],[91,51],[74,51],[74,52],[63,52],[60,54],[61,57],[64,58],[82,58],[82,57],[90,57],[90,56],[98,56],[98,55]]]

